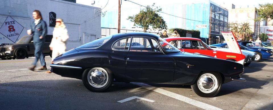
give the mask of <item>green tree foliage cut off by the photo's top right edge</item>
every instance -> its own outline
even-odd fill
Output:
[[[256,21],[273,19],[273,3],[259,5],[260,8],[257,9],[259,17],[256,19]]]

